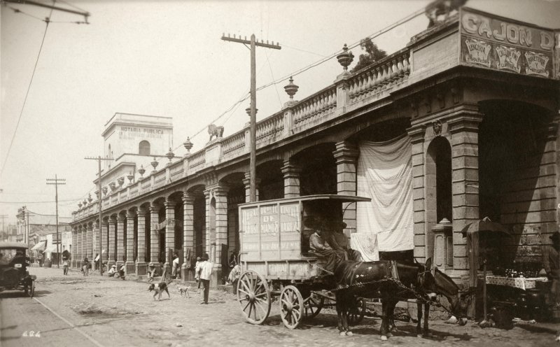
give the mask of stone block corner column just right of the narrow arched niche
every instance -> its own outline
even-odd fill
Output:
[[[451,185],[453,194],[453,269],[466,274],[468,253],[461,229],[479,220],[478,126],[482,114],[465,110],[448,120],[451,131]],[[477,269],[472,269],[477,271]]]

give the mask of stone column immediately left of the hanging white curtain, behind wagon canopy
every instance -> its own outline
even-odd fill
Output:
[[[358,148],[346,141],[336,143],[336,148],[332,155],[334,155],[337,163],[337,194],[355,196],[357,192]],[[344,234],[346,234],[346,237],[350,237],[351,233],[356,232],[356,204],[344,203],[342,204],[342,211],[344,211],[343,218],[346,223]]]

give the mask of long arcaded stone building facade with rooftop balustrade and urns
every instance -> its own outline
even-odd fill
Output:
[[[407,139],[410,225],[402,238],[417,260],[435,257],[459,281],[469,271],[461,229],[484,216],[513,231],[503,245],[512,258],[540,260],[559,221],[559,37],[559,30],[461,8],[360,71],[346,71],[345,49],[332,85],[293,101],[290,81],[290,101],[258,122],[258,199],[358,194],[358,172],[376,169],[358,164],[366,146]],[[146,176],[136,168],[130,183],[73,213],[73,259],[91,255],[99,237],[109,266],[137,274],[147,264],[170,267],[178,251],[209,253],[219,283],[224,260],[239,250],[249,143],[246,127],[196,153],[186,141],[185,157],[169,155]],[[366,232],[360,208],[346,208],[348,236]]]

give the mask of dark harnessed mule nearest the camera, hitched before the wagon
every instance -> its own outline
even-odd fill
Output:
[[[395,264],[395,268],[392,267]],[[355,297],[381,298],[381,339],[391,336],[390,325],[397,302],[414,297],[414,292],[435,298],[435,280],[430,272],[431,260],[426,264],[401,264],[388,260],[379,262],[341,262],[335,269],[337,289],[338,329],[341,335],[351,335],[348,311]],[[395,281],[398,276],[398,281]],[[426,295],[428,293],[428,295]]]

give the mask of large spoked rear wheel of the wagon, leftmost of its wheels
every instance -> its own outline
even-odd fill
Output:
[[[262,324],[270,313],[270,290],[265,278],[253,270],[245,271],[237,283],[237,300],[248,323]]]

